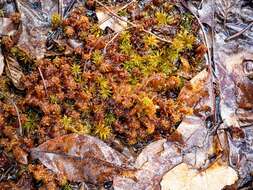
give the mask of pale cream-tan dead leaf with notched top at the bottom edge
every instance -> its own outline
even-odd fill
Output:
[[[234,169],[225,163],[216,162],[207,170],[199,172],[182,163],[164,175],[162,190],[221,190],[238,179]]]

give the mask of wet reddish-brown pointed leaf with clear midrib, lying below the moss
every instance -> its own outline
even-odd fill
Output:
[[[32,149],[32,157],[74,182],[101,185],[116,175],[134,177],[135,172],[128,158],[88,135],[70,134],[49,140]]]

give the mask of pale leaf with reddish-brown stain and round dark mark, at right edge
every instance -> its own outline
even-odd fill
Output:
[[[221,115],[228,126],[250,126],[253,124],[253,83],[250,78],[253,56],[250,52],[240,52],[224,56],[219,66],[221,94]],[[224,75],[226,72],[226,75]]]

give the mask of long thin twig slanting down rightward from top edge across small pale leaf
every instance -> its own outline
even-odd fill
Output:
[[[103,3],[101,3],[100,1],[98,1],[98,0],[95,0],[95,1],[96,1],[99,5],[101,5],[102,7],[104,7],[105,10],[107,10],[112,16],[116,17],[117,19],[119,19],[119,20],[121,20],[121,21],[123,21],[123,22],[126,22],[127,24],[129,24],[129,25],[132,26],[132,27],[135,27],[135,28],[138,28],[138,27],[139,27],[138,25],[136,25],[136,24],[134,24],[134,23],[132,23],[132,22],[130,22],[130,21],[128,21],[128,20],[125,20],[125,19],[121,18],[120,16],[118,16],[117,14],[115,14],[111,9],[109,9],[108,7],[106,7],[106,6],[105,6]],[[163,39],[163,38],[157,36],[156,34],[154,34],[154,33],[150,32],[150,31],[144,29],[143,27],[141,27],[141,30],[142,30],[143,32],[146,32],[146,33],[148,33],[148,34],[150,34],[150,35],[156,37],[158,40],[160,40],[160,41],[162,41],[162,42],[171,43],[170,40]]]

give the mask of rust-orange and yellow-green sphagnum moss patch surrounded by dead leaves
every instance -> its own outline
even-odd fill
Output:
[[[196,35],[194,17],[173,3],[156,2],[141,12],[121,11],[118,15],[137,27],[123,29],[113,41],[114,31],[100,29],[87,7],[75,8],[63,20],[53,14],[52,29],[61,30],[66,41],[74,39],[81,46],[63,43],[52,50],[52,56],[38,62],[14,46],[10,37],[3,37],[1,43],[12,57],[25,66],[36,63],[41,73],[31,69],[24,76],[22,93],[13,91],[9,82],[1,88],[14,94],[26,130],[24,137],[16,138],[17,113],[0,97],[0,128],[6,126],[1,145],[12,150],[13,143],[23,146],[25,142],[31,148],[68,133],[90,134],[105,141],[119,138],[129,146],[170,137],[183,117],[192,113],[177,98],[184,84],[202,69],[206,48]],[[5,77],[0,78],[1,87]]]

